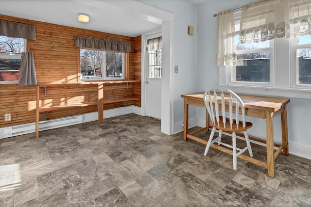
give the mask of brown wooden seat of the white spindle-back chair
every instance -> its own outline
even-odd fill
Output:
[[[219,127],[218,127],[218,122],[216,120],[216,117],[215,117],[216,124],[213,124],[211,120],[209,121],[209,124],[212,127],[215,127],[217,129],[221,129],[223,131],[229,131],[229,132],[232,132],[232,131],[235,131],[235,132],[246,131],[246,129],[248,129],[248,128],[253,126],[253,124],[251,122],[245,122],[245,127],[243,127],[243,123],[242,123],[242,121],[240,121],[239,122],[239,126],[237,128],[236,120],[233,120],[232,128],[230,128],[230,120],[228,118],[226,118],[225,120],[226,120],[225,121],[225,126],[224,126],[224,122],[223,122],[223,117],[222,116],[219,117]]]

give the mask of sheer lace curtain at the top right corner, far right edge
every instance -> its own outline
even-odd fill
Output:
[[[288,37],[311,34],[311,0],[284,0]]]

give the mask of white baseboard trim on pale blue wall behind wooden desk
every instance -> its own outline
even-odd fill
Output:
[[[194,126],[205,127],[205,122],[206,122],[205,119],[197,119],[196,121],[194,121],[192,119],[192,120],[190,120],[190,123],[197,123],[197,125],[189,124],[189,126],[190,127],[194,127]],[[177,127],[176,127],[176,129],[177,129]],[[176,133],[178,133],[178,132],[180,132],[180,131],[177,131]],[[259,134],[257,132],[248,131],[248,135],[251,137],[258,138],[260,140],[266,140],[266,136],[264,134]],[[275,137],[274,142],[281,144],[282,138]],[[253,142],[253,143],[263,145],[262,143],[259,143],[259,142]],[[311,145],[306,145],[303,143],[294,143],[294,142],[289,141],[288,146],[289,146],[289,153],[290,154],[296,155],[298,157],[306,158],[306,159],[311,159],[311,153],[310,153],[311,152]]]

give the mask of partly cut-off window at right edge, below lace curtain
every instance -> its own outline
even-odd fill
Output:
[[[293,41],[293,87],[311,87],[311,35]]]

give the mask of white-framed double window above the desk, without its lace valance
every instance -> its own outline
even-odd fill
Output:
[[[291,38],[239,44],[240,18],[241,10],[235,11],[237,64],[220,66],[219,85],[238,93],[311,99],[311,35],[304,35],[308,31],[294,38],[291,34]],[[297,33],[309,28],[304,18],[291,21],[299,22],[294,27]]]

